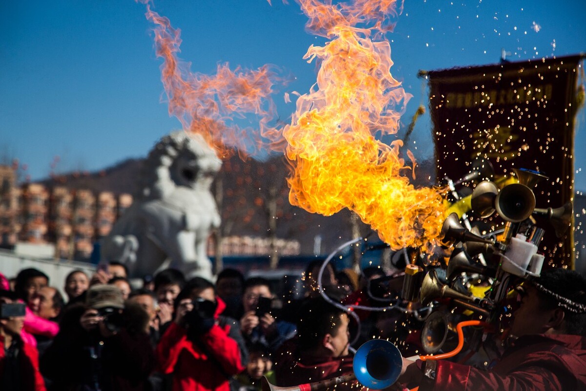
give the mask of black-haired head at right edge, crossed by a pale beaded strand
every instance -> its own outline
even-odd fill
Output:
[[[563,268],[543,271],[523,284],[522,301],[513,314],[511,334],[586,336],[586,278]]]

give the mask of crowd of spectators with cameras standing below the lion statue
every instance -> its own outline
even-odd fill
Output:
[[[302,310],[328,305],[317,293],[320,265],[308,266],[298,300],[232,268],[215,283],[169,268],[139,286],[117,262],[65,281],[36,268],[0,274],[0,389],[258,391],[263,376],[277,382],[275,358],[296,341]],[[358,284],[355,272],[332,267],[323,282],[336,300]]]

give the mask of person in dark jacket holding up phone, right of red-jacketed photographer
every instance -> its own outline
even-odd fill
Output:
[[[244,283],[244,316],[240,319],[247,346],[261,344],[268,352],[277,349],[296,334],[295,325],[277,320],[272,313],[271,283],[266,278],[252,277]]]

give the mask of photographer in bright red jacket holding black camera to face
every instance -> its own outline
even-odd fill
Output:
[[[175,319],[156,355],[163,373],[173,373],[172,389],[230,391],[232,376],[244,370],[248,352],[226,305],[205,278],[188,282],[175,300]]]

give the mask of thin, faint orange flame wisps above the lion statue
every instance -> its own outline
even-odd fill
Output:
[[[284,149],[284,139],[277,131],[277,111],[271,94],[273,86],[283,82],[265,65],[256,70],[219,64],[213,76],[192,73],[190,64],[177,56],[181,44],[180,30],[168,18],[152,11],[147,0],[147,19],[154,23],[155,50],[164,62],[161,79],[169,99],[169,115],[174,115],[183,129],[201,134],[220,157],[229,157],[234,149],[241,156],[260,149]],[[234,118],[246,120],[254,115],[258,127],[241,127]],[[244,122],[244,121],[242,121]]]

